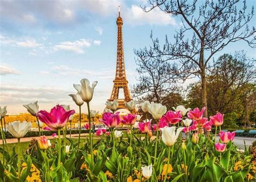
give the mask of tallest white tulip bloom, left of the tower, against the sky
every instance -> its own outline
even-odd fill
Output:
[[[87,79],[82,79],[80,81],[81,85],[73,85],[74,88],[77,90],[78,94],[82,98],[84,102],[90,102],[92,100],[93,91],[96,87],[98,81],[93,81],[92,86],[90,86],[90,81]]]

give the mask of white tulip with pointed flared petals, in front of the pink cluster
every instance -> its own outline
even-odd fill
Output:
[[[180,132],[183,130],[183,128],[178,128],[177,132],[175,133],[176,127],[165,127],[161,128],[162,131],[162,139],[163,142],[167,146],[172,146],[176,142]]]

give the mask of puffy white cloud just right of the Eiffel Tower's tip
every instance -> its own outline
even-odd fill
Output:
[[[159,8],[154,8],[150,12],[144,12],[142,8],[137,5],[132,5],[127,9],[125,18],[131,25],[173,25],[177,26],[175,19],[168,13],[161,11]]]

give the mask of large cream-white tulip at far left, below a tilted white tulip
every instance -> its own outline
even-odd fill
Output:
[[[22,138],[26,133],[31,129],[31,122],[23,121],[14,121],[7,124],[6,130],[10,132],[15,138]]]

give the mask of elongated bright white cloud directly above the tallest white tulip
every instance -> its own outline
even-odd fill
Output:
[[[90,47],[91,43],[89,40],[86,39],[79,39],[76,41],[64,41],[62,43],[59,43],[58,45],[55,46],[55,50],[64,50],[64,51],[73,51],[79,54],[83,54],[84,47]]]

